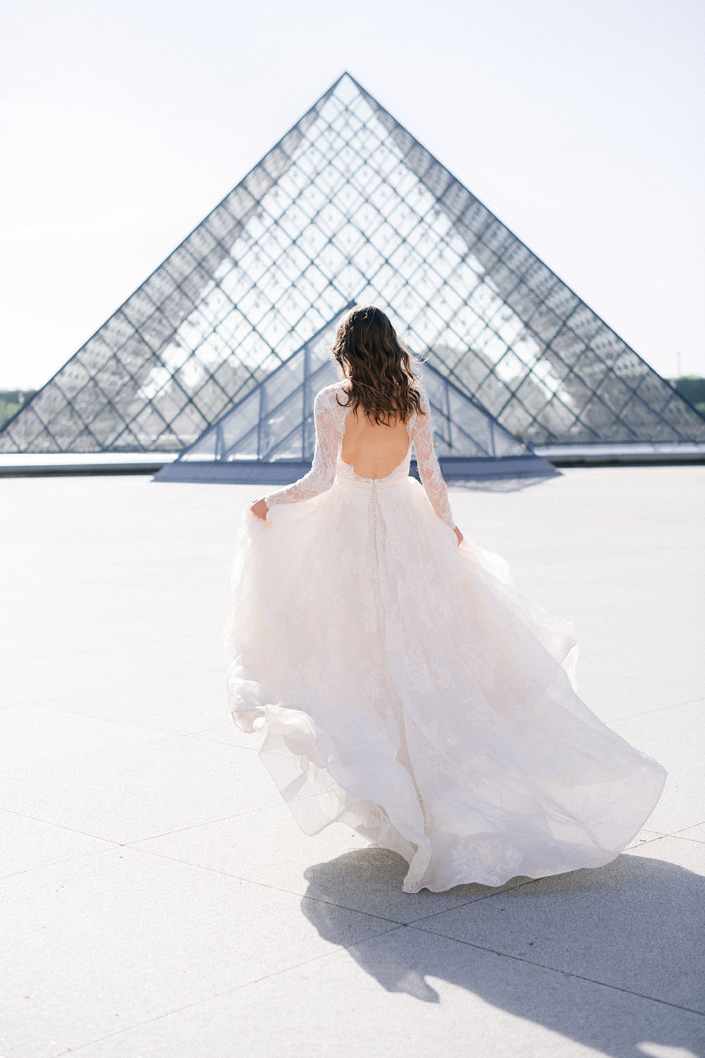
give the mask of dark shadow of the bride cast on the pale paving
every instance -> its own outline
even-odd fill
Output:
[[[705,846],[689,844],[705,860]],[[371,845],[304,873],[307,917],[387,991],[440,1003],[426,980],[438,978],[614,1058],[667,1046],[703,1053],[700,875],[642,851],[499,889],[407,894],[406,869],[401,856]],[[351,945],[342,909],[378,915],[379,933]]]

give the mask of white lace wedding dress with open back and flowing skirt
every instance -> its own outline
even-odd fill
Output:
[[[573,624],[523,598],[500,555],[458,546],[419,388],[427,414],[390,474],[342,461],[334,383],[315,399],[309,473],[265,497],[266,522],[245,507],[229,712],[262,729],[301,829],[340,821],[394,850],[407,893],[607,863],[666,771],[578,697]]]

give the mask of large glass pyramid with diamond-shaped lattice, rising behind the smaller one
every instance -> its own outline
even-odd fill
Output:
[[[700,441],[705,417],[344,74],[0,431],[190,445],[350,303],[533,444]]]

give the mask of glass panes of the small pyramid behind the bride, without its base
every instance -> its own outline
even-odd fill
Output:
[[[177,462],[310,461],[316,442],[313,403],[340,376],[330,347],[337,316],[214,423]],[[527,448],[430,364],[423,368],[440,457],[524,456]]]

